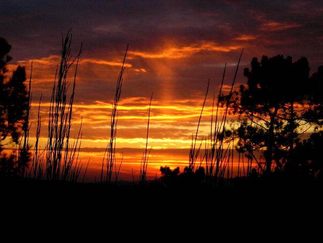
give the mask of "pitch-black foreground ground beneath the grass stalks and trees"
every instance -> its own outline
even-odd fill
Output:
[[[97,242],[117,236],[112,242],[202,242],[207,236],[264,242],[302,234],[312,242],[309,238],[319,236],[322,226],[317,182],[242,178],[210,188],[169,187],[161,181],[139,187],[19,179],[2,180],[0,188],[1,232],[13,230],[12,239],[36,235],[45,242],[54,237]]]

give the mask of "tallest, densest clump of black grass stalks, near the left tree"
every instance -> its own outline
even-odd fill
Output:
[[[81,167],[78,164],[78,152],[81,146],[81,127],[77,139],[70,144],[70,129],[72,124],[72,107],[76,86],[76,75],[82,44],[79,53],[71,59],[71,35],[69,31],[65,38],[62,36],[61,62],[56,70],[51,104],[48,115],[48,138],[46,144],[45,179],[76,181]],[[69,83],[67,75],[70,67],[76,63],[72,90],[69,101],[67,90]],[[68,102],[68,103],[67,103]]]

